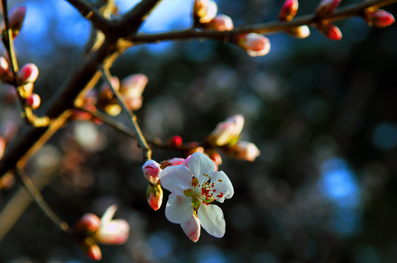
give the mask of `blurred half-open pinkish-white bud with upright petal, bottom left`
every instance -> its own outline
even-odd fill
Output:
[[[106,245],[122,245],[130,235],[130,225],[124,219],[112,219],[117,210],[117,205],[106,209],[101,218],[101,225],[95,232],[95,240]]]

